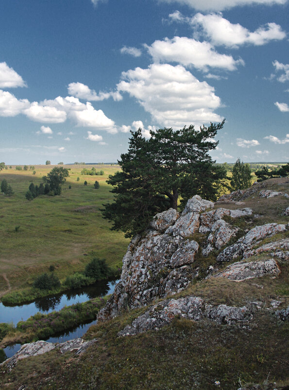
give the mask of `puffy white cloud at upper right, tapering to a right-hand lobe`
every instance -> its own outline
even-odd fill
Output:
[[[264,45],[271,40],[280,40],[286,33],[276,23],[267,23],[254,32],[250,32],[240,24],[232,24],[222,14],[196,14],[190,23],[196,29],[195,35],[208,38],[214,45],[238,47],[245,43],[256,46]]]

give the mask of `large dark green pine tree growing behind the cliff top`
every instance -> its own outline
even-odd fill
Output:
[[[121,154],[121,172],[110,175],[107,183],[116,194],[113,203],[104,204],[102,215],[112,221],[114,230],[126,237],[143,232],[152,217],[170,207],[184,207],[193,195],[216,200],[225,186],[226,170],[214,166],[208,152],[216,149],[214,141],[219,124],[195,130],[151,130],[149,139],[141,129],[131,131],[127,153]]]

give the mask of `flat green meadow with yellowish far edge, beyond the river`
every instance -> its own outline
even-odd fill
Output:
[[[92,166],[62,166],[71,170],[61,195],[27,201],[30,183],[39,185],[52,167],[35,166],[35,175],[15,166],[0,171],[0,181],[6,179],[15,192],[11,197],[0,194],[0,296],[10,288],[30,286],[50,265],[60,279],[83,270],[91,251],[105,258],[112,268],[121,268],[129,240],[122,232],[111,231],[100,211],[103,203],[113,199],[105,181],[119,166],[94,165],[97,171],[104,171],[103,176],[81,175],[83,167]],[[99,189],[93,186],[95,180],[100,183]]]

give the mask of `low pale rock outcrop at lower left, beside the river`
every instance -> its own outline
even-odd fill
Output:
[[[60,353],[75,351],[76,354],[81,354],[95,342],[96,339],[85,341],[82,338],[74,338],[61,344],[49,343],[43,340],[35,341],[34,343],[23,344],[15,355],[9,359],[6,359],[3,363],[0,364],[0,366],[5,365],[8,371],[11,371],[17,365],[19,360],[26,359],[27,357],[31,356],[41,355],[56,348],[60,350]]]

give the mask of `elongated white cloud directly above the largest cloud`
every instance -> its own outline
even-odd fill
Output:
[[[244,65],[242,59],[235,60],[232,56],[217,53],[209,42],[188,37],[156,40],[146,48],[154,62],[178,62],[203,71],[207,71],[208,67],[234,71],[238,65]]]

